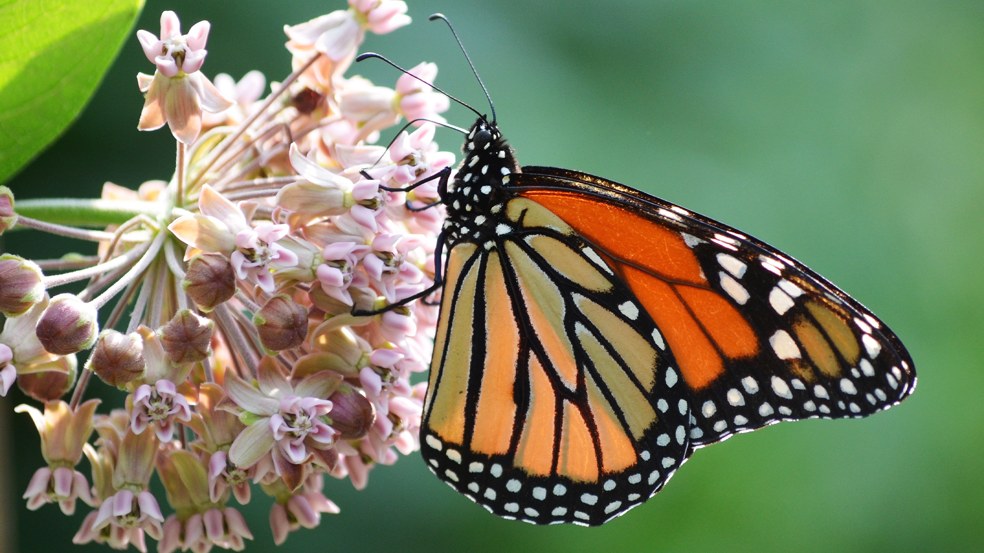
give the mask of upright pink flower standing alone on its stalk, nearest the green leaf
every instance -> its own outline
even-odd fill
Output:
[[[154,76],[137,75],[147,99],[137,128],[153,131],[166,123],[179,142],[191,144],[202,132],[202,110],[218,113],[232,101],[223,97],[199,71],[208,51],[210,24],[199,22],[181,34],[181,23],[174,12],[160,15],[160,38],[153,32],[137,31],[144,54],[157,67]]]

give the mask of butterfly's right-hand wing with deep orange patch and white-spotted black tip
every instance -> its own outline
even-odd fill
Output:
[[[512,180],[609,258],[655,321],[694,404],[694,447],[911,394],[911,359],[884,323],[768,245],[584,173],[524,167]]]

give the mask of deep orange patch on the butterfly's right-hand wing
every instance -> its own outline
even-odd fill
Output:
[[[759,352],[751,325],[710,288],[678,232],[577,193],[538,190],[523,197],[558,215],[603,251],[666,338],[691,389],[714,382],[724,372],[725,358]]]

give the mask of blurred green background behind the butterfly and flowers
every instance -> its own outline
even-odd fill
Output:
[[[340,0],[149,0],[187,29],[213,23],[205,72],[282,79],[282,24]],[[410,0],[415,23],[364,51],[411,66],[484,110],[455,22],[521,162],[582,169],[762,238],[878,313],[908,346],[916,394],[864,420],[780,424],[702,450],[645,506],[600,528],[499,520],[417,455],[374,469],[365,491],[329,481],[341,514],[283,551],[980,551],[984,549],[984,3]],[[85,52],[80,52],[85,55]],[[82,117],[11,183],[21,198],[95,196],[103,181],[169,178],[166,131],[136,130],[136,37]],[[382,63],[359,73],[393,86]],[[449,119],[471,122],[463,108]],[[439,135],[446,150],[460,139]],[[12,233],[34,257],[77,243]],[[88,252],[85,252],[88,253]],[[106,393],[105,387],[92,390]],[[19,394],[19,393],[18,393]],[[23,492],[41,465],[29,418],[10,409]],[[117,399],[118,401],[119,399]],[[85,461],[84,461],[85,462]],[[88,468],[84,468],[88,470]],[[72,549],[89,509],[63,517],[17,500],[21,551]],[[271,551],[269,499],[242,508]],[[152,550],[154,545],[151,545]]]

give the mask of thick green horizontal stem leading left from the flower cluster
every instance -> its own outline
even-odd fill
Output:
[[[156,218],[163,206],[157,202],[137,200],[82,200],[76,198],[44,198],[18,200],[14,204],[18,215],[45,222],[71,226],[102,227],[122,224],[137,215]],[[15,226],[14,228],[17,228]]]

